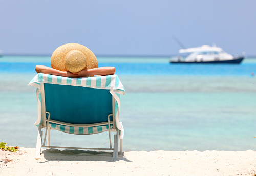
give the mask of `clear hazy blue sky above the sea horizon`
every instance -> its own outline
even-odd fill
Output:
[[[1,1],[0,49],[51,55],[80,43],[97,55],[168,56],[216,44],[256,55],[256,1]]]

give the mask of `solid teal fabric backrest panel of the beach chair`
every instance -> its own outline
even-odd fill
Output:
[[[46,83],[44,90],[46,111],[50,112],[51,120],[93,124],[108,122],[108,115],[113,112],[109,90]]]

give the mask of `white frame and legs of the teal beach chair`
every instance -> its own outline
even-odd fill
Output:
[[[71,123],[64,123],[50,119],[50,113],[46,111],[46,104],[45,104],[45,88],[44,83],[40,83],[41,89],[41,101],[42,101],[42,108],[41,108],[41,118],[42,124],[38,126],[38,134],[37,134],[37,142],[36,142],[36,153],[35,159],[40,159],[41,154],[41,147],[43,148],[67,148],[67,149],[84,149],[84,150],[113,150],[113,158],[118,158],[118,139],[119,139],[119,129],[116,127],[115,122],[115,99],[112,96],[112,114],[108,116],[108,122],[102,123],[94,123],[94,124],[71,124]],[[46,118],[46,113],[48,114],[48,119]],[[113,116],[113,121],[110,121],[110,116]],[[108,125],[109,126],[109,140],[110,140],[110,148],[82,148],[82,147],[61,147],[61,146],[50,146],[50,130],[53,129],[49,126],[49,122],[65,125],[65,126],[73,126],[73,127],[91,127],[91,126],[101,126],[101,125]],[[113,128],[110,128],[110,124],[113,124]],[[41,129],[46,127],[44,142],[42,143],[43,131]],[[116,132],[114,135],[114,147],[112,148],[111,143],[111,132]],[[106,132],[106,131],[102,131]],[[102,133],[100,132],[100,133]],[[94,133],[95,134],[95,133]],[[91,134],[90,134],[91,135]],[[45,145],[47,137],[47,145]],[[122,139],[120,139],[120,152],[122,152]]]

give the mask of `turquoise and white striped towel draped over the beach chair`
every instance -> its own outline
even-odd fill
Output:
[[[115,118],[116,127],[120,130],[120,138],[123,138],[123,125],[119,121],[119,107],[120,107],[120,94],[125,95],[124,87],[119,80],[117,75],[108,76],[94,76],[94,77],[84,77],[84,78],[69,78],[62,76],[55,76],[49,74],[39,73],[37,74],[28,85],[36,87],[36,97],[38,105],[38,118],[35,125],[38,126],[42,124],[41,119],[41,90],[40,83],[48,84],[59,84],[59,85],[73,85],[82,87],[91,87],[96,89],[108,89],[110,93],[115,98]],[[43,124],[42,124],[43,125]],[[51,128],[72,134],[94,134],[100,133],[101,131],[106,131],[109,129],[108,125],[96,126],[96,127],[70,127],[64,125],[49,124]],[[45,127],[44,125],[42,127]],[[111,128],[113,125],[111,125]]]

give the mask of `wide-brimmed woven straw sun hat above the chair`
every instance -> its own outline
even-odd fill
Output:
[[[68,43],[58,47],[51,57],[53,69],[79,72],[83,69],[93,69],[98,67],[96,56],[91,50],[77,43]]]

